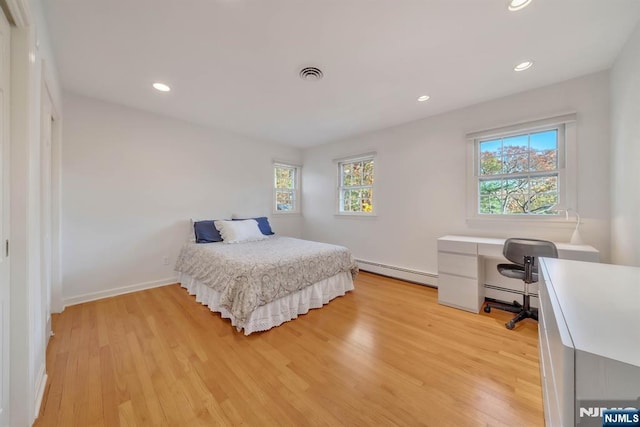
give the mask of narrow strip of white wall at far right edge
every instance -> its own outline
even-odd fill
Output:
[[[640,25],[611,71],[611,259],[640,266]]]

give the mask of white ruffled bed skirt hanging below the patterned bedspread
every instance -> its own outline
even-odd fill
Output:
[[[351,272],[338,273],[256,308],[247,321],[240,325],[227,309],[220,306],[218,291],[184,273],[178,273],[178,281],[190,295],[196,296],[197,302],[208,306],[213,312],[220,313],[223,318],[230,319],[231,324],[238,331],[244,330],[245,335],[266,331],[296,319],[300,314],[305,314],[312,308],[320,308],[332,299],[353,290]]]

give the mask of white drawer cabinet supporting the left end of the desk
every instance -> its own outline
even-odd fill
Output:
[[[478,313],[484,302],[482,265],[476,243],[438,239],[438,302]]]

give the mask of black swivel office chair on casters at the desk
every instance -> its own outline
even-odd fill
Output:
[[[517,313],[505,323],[507,329],[513,329],[516,323],[523,319],[538,320],[538,309],[530,305],[529,284],[538,281],[538,257],[558,258],[558,249],[553,242],[537,239],[507,239],[502,248],[502,254],[513,264],[498,264],[498,272],[503,276],[520,279],[524,282],[522,305],[517,301],[513,304],[488,302],[484,306],[485,313],[491,313],[491,308]]]

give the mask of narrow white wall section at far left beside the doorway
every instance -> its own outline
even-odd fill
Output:
[[[41,2],[18,0],[9,9],[16,22],[11,31],[9,416],[11,425],[30,425],[46,384],[49,309],[40,270],[40,89],[46,79],[55,104],[60,86]]]

